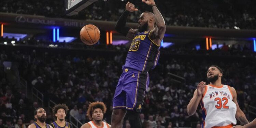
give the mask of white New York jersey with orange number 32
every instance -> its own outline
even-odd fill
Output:
[[[229,126],[237,124],[237,106],[233,100],[233,94],[228,85],[216,87],[206,85],[202,100],[202,128],[214,126]]]

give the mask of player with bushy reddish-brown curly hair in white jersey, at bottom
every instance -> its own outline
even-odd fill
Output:
[[[81,126],[81,128],[110,128],[111,126],[103,122],[103,115],[106,113],[106,105],[103,102],[93,102],[89,104],[87,116],[90,122]]]

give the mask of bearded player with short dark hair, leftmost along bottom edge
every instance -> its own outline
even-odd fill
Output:
[[[38,108],[34,111],[34,118],[37,120],[28,128],[53,128],[52,126],[45,123],[46,120],[46,112],[43,108]]]

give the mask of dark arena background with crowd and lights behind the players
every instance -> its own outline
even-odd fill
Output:
[[[73,2],[73,3],[72,3]],[[152,7],[138,9],[127,26]],[[202,109],[187,105],[211,65],[223,69],[222,83],[234,87],[249,122],[256,118],[256,1],[155,0],[166,32],[157,66],[150,70],[140,119],[143,128],[200,128]],[[127,0],[2,0],[0,2],[0,128],[26,128],[43,107],[69,107],[73,128],[87,123],[90,102],[102,101],[111,124],[112,100],[131,40],[115,31]],[[95,45],[79,37],[83,26],[100,30]],[[21,124],[18,120],[22,120]],[[20,121],[19,121],[20,122]],[[242,125],[237,120],[237,125]],[[22,126],[22,127],[21,127]],[[130,128],[124,118],[123,128]]]

